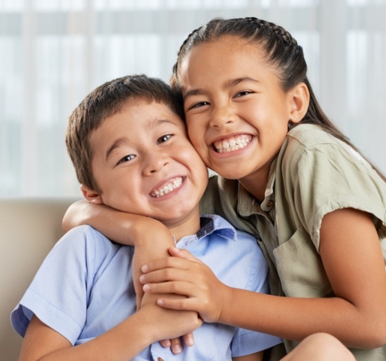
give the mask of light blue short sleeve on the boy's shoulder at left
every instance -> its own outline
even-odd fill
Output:
[[[92,288],[95,234],[88,226],[74,228],[50,251],[11,313],[12,326],[21,336],[36,315],[72,344],[77,340],[85,324]]]

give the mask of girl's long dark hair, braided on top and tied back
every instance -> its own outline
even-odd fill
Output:
[[[298,83],[305,83],[309,90],[309,106],[307,113],[299,123],[315,124],[323,128],[325,132],[347,143],[350,147],[360,153],[349,139],[338,130],[329,118],[325,115],[311,84],[307,79],[307,63],[305,62],[303,48],[298,45],[292,35],[281,26],[269,21],[257,19],[256,17],[221,19],[216,18],[209,23],[194,30],[181,45],[177,61],[173,67],[170,84],[181,92],[181,62],[194,46],[209,41],[216,41],[221,37],[238,37],[249,43],[256,43],[265,50],[265,61],[273,65],[277,70],[283,91],[288,92]],[[292,124],[291,127],[296,125]],[[360,153],[361,154],[361,153]],[[363,154],[361,154],[363,156]],[[386,181],[385,176],[375,167],[372,162],[363,156]]]

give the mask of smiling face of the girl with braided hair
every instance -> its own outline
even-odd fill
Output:
[[[181,85],[188,134],[207,167],[266,184],[294,102],[263,54],[234,37],[197,45],[181,63]]]

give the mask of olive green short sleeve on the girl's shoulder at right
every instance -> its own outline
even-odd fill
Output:
[[[344,143],[318,144],[304,149],[293,170],[296,212],[319,249],[323,216],[336,209],[354,208],[374,216],[380,238],[386,236],[386,185],[358,152]],[[287,168],[289,168],[287,167]]]

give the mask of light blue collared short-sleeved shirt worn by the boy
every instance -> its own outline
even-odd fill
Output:
[[[219,216],[205,223],[177,247],[188,249],[226,285],[269,292],[267,262],[252,236],[236,231]],[[134,247],[112,243],[90,226],[72,229],[45,258],[32,284],[11,314],[14,329],[24,336],[35,314],[72,344],[101,335],[136,311],[132,282]],[[134,360],[231,360],[282,342],[280,338],[205,323],[194,331],[194,347],[179,355],[154,342]]]

